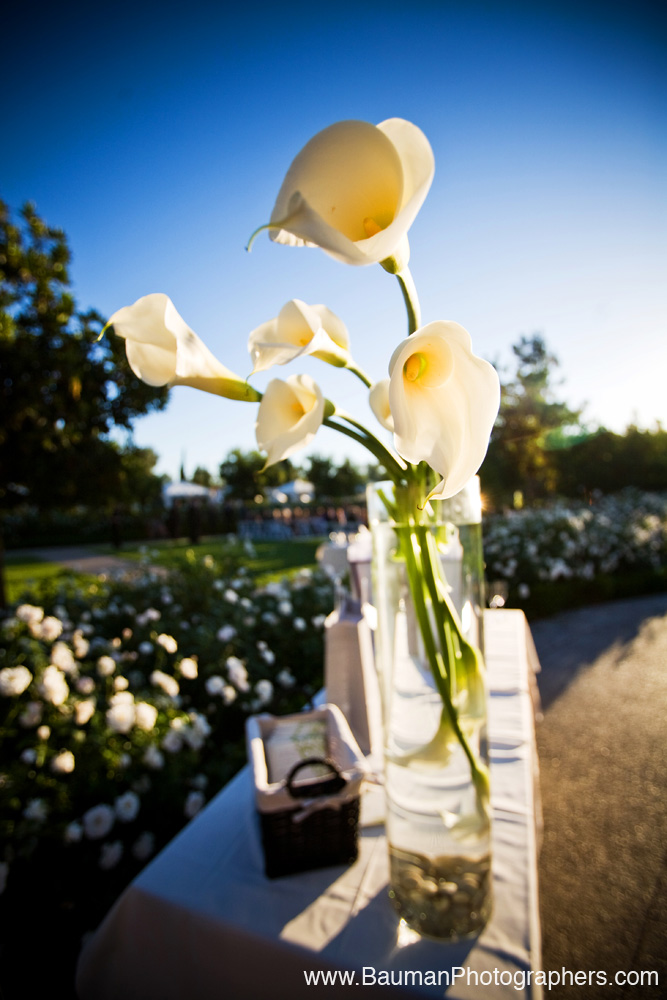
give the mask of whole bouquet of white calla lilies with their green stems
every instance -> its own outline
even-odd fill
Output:
[[[460,744],[470,764],[480,815],[489,807],[487,766],[459,723],[459,711],[483,690],[479,650],[464,638],[443,569],[429,542],[432,504],[459,493],[479,469],[500,405],[495,369],[473,352],[470,334],[451,320],[422,325],[408,267],[408,232],[434,174],[433,152],[414,124],[343,121],[311,138],[283,180],[267,223],[252,234],[289,247],[318,247],[353,266],[380,264],[394,275],[408,335],[392,345],[379,380],[354,361],[347,326],[326,305],[290,299],[248,336],[252,374],[317,358],[360,379],[382,437],[325,399],[305,374],[272,379],[259,394],[217,362],[162,293],[114,313],[135,373],[153,385],[191,385],[231,399],[259,400],[257,444],[266,466],[306,447],[326,426],[363,444],[393,481],[383,500],[398,530],[416,621],[442,697],[436,742]],[[388,376],[388,377],[387,377]],[[251,376],[252,377],[252,376]],[[260,398],[261,396],[261,398]],[[386,431],[392,435],[390,443]],[[384,438],[384,440],[383,440]],[[256,704],[262,704],[258,693]],[[429,748],[424,752],[428,754]]]

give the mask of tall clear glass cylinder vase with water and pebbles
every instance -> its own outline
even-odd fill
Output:
[[[479,481],[419,502],[368,489],[389,895],[413,930],[456,940],[492,905]]]

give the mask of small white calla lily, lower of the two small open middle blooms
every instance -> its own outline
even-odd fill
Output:
[[[266,465],[282,461],[305,448],[324,419],[325,400],[309,375],[273,379],[264,392],[257,413],[257,444],[267,453]]]

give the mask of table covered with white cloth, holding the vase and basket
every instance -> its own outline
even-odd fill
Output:
[[[485,636],[495,905],[478,939],[401,933],[381,825],[360,831],[359,858],[347,869],[265,878],[245,768],[111,909],[79,961],[81,1000],[298,1000],[318,995],[305,975],[318,970],[353,970],[361,984],[366,970],[373,995],[442,997],[457,969],[448,1000],[539,998],[539,986],[516,988],[541,960],[531,696],[539,664],[522,612],[487,611]],[[320,992],[331,1000],[354,989],[330,982]]]

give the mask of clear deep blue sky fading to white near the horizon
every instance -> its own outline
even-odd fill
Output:
[[[379,267],[249,234],[291,160],[334,121],[403,117],[435,153],[410,233],[425,322],[509,362],[541,332],[560,394],[622,430],[667,425],[667,32],[660,4],[32,7],[10,24],[0,196],[68,234],[82,307],[166,292],[229,368],[290,298],[326,303],[371,375],[405,331]],[[664,9],[664,8],[663,8]],[[15,15],[17,16],[17,15]],[[306,371],[364,418],[361,383]],[[254,446],[255,406],[181,388],[135,440],[175,475]],[[331,431],[308,452],[361,451]]]

